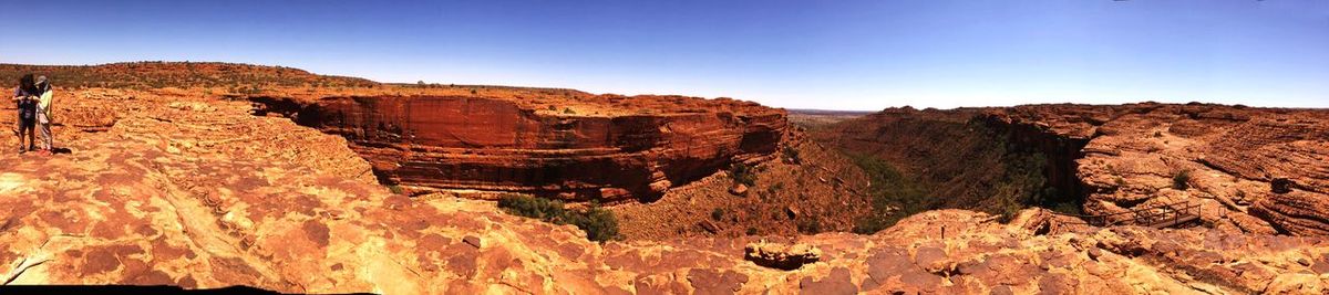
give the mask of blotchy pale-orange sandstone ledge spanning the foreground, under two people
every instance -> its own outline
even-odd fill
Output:
[[[0,154],[11,284],[255,286],[381,294],[1318,294],[1329,242],[1223,230],[1035,235],[964,210],[874,235],[768,237],[821,251],[744,260],[759,238],[587,242],[492,203],[411,199],[339,137],[249,105],[136,94],[53,157]],[[941,237],[945,229],[945,238]]]

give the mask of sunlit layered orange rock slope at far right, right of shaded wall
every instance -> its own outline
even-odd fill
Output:
[[[1045,105],[991,116],[1090,140],[1076,161],[1088,213],[1195,202],[1216,229],[1329,234],[1326,110]],[[1280,183],[1292,189],[1276,193]]]

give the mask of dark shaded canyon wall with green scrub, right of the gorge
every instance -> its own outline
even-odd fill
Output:
[[[1003,121],[985,109],[886,109],[811,133],[882,159],[924,190],[928,207],[999,213],[1015,203],[1078,205],[1083,141]]]

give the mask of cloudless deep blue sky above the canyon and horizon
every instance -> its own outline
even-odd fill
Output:
[[[1326,0],[0,0],[0,62],[233,61],[816,109],[1329,106]]]

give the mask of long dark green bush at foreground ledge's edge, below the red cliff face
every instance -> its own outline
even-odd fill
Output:
[[[586,231],[586,239],[605,242],[618,239],[618,218],[614,213],[591,203],[586,210],[563,209],[563,202],[520,194],[506,194],[498,199],[505,213],[536,218],[556,225],[573,225]]]

